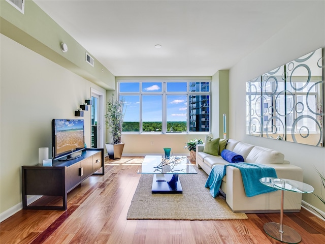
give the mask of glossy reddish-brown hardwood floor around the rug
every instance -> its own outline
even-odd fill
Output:
[[[68,210],[20,210],[0,224],[0,243],[282,243],[263,230],[279,214],[247,214],[248,220],[126,220],[143,157],[106,161],[104,176],[91,176],[68,194]],[[325,243],[325,222],[306,209],[284,214],[300,243]]]

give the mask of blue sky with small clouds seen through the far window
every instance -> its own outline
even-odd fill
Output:
[[[142,83],[142,116],[143,121],[161,121],[163,116],[163,96],[161,94],[148,94],[161,92],[161,82]],[[186,92],[186,82],[167,82],[167,92]],[[139,83],[120,83],[120,92],[140,92]],[[124,95],[126,110],[124,121],[140,121],[139,96]],[[167,95],[167,121],[186,121],[187,96]]]

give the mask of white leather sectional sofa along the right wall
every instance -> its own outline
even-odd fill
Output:
[[[229,162],[221,156],[213,156],[203,152],[204,144],[197,145],[196,163],[207,174],[210,174],[214,165],[225,165]],[[300,167],[290,165],[284,160],[279,151],[254,146],[241,141],[229,139],[225,149],[234,151],[243,156],[246,163],[266,164],[273,167],[278,178],[303,181],[303,171]],[[226,195],[226,202],[234,212],[279,212],[281,207],[281,191],[247,197],[243,186],[240,170],[233,166],[226,167],[226,175],[222,178],[220,189]],[[299,212],[301,209],[301,193],[284,192],[284,211]]]

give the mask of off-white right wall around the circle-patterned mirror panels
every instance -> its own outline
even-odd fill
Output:
[[[296,19],[284,23],[280,32],[231,68],[229,78],[230,137],[281,151],[291,164],[303,168],[304,182],[312,185],[316,194],[320,194],[321,185],[315,167],[325,172],[325,148],[246,135],[245,89],[248,80],[325,47],[324,4],[324,1],[313,3]],[[325,211],[325,205],[314,195],[303,194],[303,200]]]

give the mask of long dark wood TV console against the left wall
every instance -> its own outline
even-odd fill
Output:
[[[67,194],[90,175],[104,175],[104,149],[87,148],[81,157],[53,160],[52,166],[22,166],[22,208],[67,210]],[[101,169],[102,168],[102,169]],[[62,206],[27,205],[27,196],[60,196]],[[38,202],[39,200],[35,201]]]

